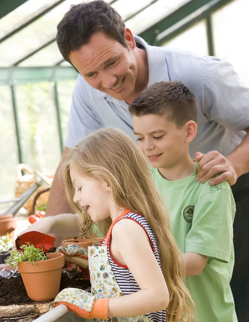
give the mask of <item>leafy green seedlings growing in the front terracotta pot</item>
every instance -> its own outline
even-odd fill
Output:
[[[33,265],[35,265],[35,261],[37,260],[47,260],[45,253],[40,248],[35,248],[34,245],[22,245],[20,246],[24,251],[17,251],[13,249],[10,252],[9,259],[5,260],[5,263],[12,266],[13,268],[16,266],[18,268],[17,264],[21,263],[23,261],[26,262],[33,262]]]

